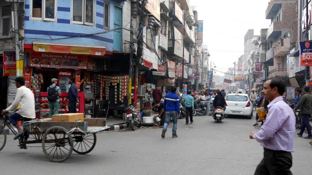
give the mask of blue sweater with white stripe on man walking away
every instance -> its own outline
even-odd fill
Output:
[[[166,112],[177,111],[180,115],[179,96],[174,92],[167,93],[163,101],[163,108]]]

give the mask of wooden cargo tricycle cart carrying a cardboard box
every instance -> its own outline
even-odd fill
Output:
[[[25,145],[25,149],[26,144],[41,143],[43,153],[48,159],[53,162],[63,162],[70,157],[72,151],[78,154],[90,153],[96,144],[96,133],[110,128],[105,125],[105,121],[105,118],[85,118],[84,122],[52,121],[51,118],[25,121],[22,126],[29,137],[25,135],[18,137],[19,146]],[[6,143],[5,126],[17,135],[10,125],[8,115],[0,118],[0,150]]]

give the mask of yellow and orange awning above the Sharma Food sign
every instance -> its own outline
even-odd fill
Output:
[[[36,52],[53,52],[66,54],[105,55],[104,46],[72,45],[62,43],[46,43],[33,41],[33,50]]]

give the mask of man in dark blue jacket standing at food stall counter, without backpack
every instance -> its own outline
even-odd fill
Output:
[[[79,103],[79,99],[78,89],[75,84],[75,78],[68,78],[68,84],[71,85],[67,95],[67,100],[69,100],[69,113],[77,113],[76,103]]]

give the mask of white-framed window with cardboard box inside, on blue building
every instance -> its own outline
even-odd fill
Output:
[[[30,19],[56,21],[56,0],[31,0]]]

